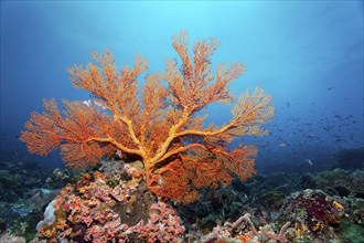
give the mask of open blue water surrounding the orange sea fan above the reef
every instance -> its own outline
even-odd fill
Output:
[[[257,166],[330,160],[364,146],[363,1],[1,1],[1,150],[30,156],[18,136],[42,99],[89,99],[66,68],[109,50],[118,66],[139,53],[149,71],[176,59],[171,38],[188,30],[190,44],[214,36],[218,63],[243,61],[247,73],[231,88],[271,94],[276,116]],[[142,78],[140,78],[142,83]],[[210,106],[208,122],[229,119],[228,106]],[[240,142],[238,140],[236,142]],[[52,154],[52,163],[61,163]]]

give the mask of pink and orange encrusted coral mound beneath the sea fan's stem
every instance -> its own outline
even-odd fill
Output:
[[[184,226],[175,210],[148,196],[146,183],[136,178],[138,163],[124,163],[117,184],[106,181],[114,175],[84,173],[76,184],[67,184],[53,203],[52,220],[40,224],[38,239],[74,242],[181,242]],[[107,166],[106,166],[107,167]],[[106,168],[104,167],[104,168]],[[142,192],[143,193],[140,193]]]

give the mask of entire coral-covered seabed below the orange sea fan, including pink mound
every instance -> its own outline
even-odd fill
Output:
[[[45,210],[46,223],[39,223],[41,212],[44,202],[54,198],[54,191],[38,189],[26,200],[0,203],[2,237],[21,241],[23,239],[17,236],[23,236],[30,242],[39,223],[33,243],[363,240],[364,200],[357,198],[358,193],[341,197],[332,190],[329,194],[302,188],[295,193],[282,193],[297,188],[301,179],[282,180],[289,183],[282,187],[269,183],[280,178],[279,173],[272,173],[254,177],[244,184],[235,180],[225,188],[203,189],[199,201],[182,205],[153,197],[140,172],[142,167],[138,160],[109,159],[103,160],[97,169],[74,175],[72,183],[64,187],[54,204]],[[331,172],[338,173],[336,170]],[[362,170],[341,172],[338,179],[357,178]],[[55,173],[64,177],[62,170]],[[322,184],[328,186],[326,182]],[[350,189],[350,183],[346,186]],[[279,205],[282,207],[278,209]]]

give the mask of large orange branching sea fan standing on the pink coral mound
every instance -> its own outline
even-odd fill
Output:
[[[42,156],[60,147],[66,166],[75,169],[117,151],[137,156],[149,190],[183,203],[196,200],[199,189],[251,177],[256,147],[228,146],[242,136],[267,134],[263,125],[274,116],[271,97],[256,88],[235,98],[228,84],[245,65],[221,64],[213,74],[211,56],[220,42],[197,41],[190,52],[188,39],[185,31],[172,39],[181,66],[167,61],[163,73],[146,76],[141,91],[144,57],[136,55],[132,67],[118,72],[110,52],[94,53],[95,63],[68,70],[72,83],[90,92],[93,102],[63,101],[61,113],[54,99],[44,101],[45,112],[31,115],[21,140]],[[228,123],[205,125],[203,109],[212,103],[233,103]]]

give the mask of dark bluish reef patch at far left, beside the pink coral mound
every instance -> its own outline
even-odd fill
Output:
[[[18,152],[1,151],[0,168],[0,235],[30,241],[36,233],[35,225],[42,219],[44,207],[58,191],[45,184],[49,169]]]

